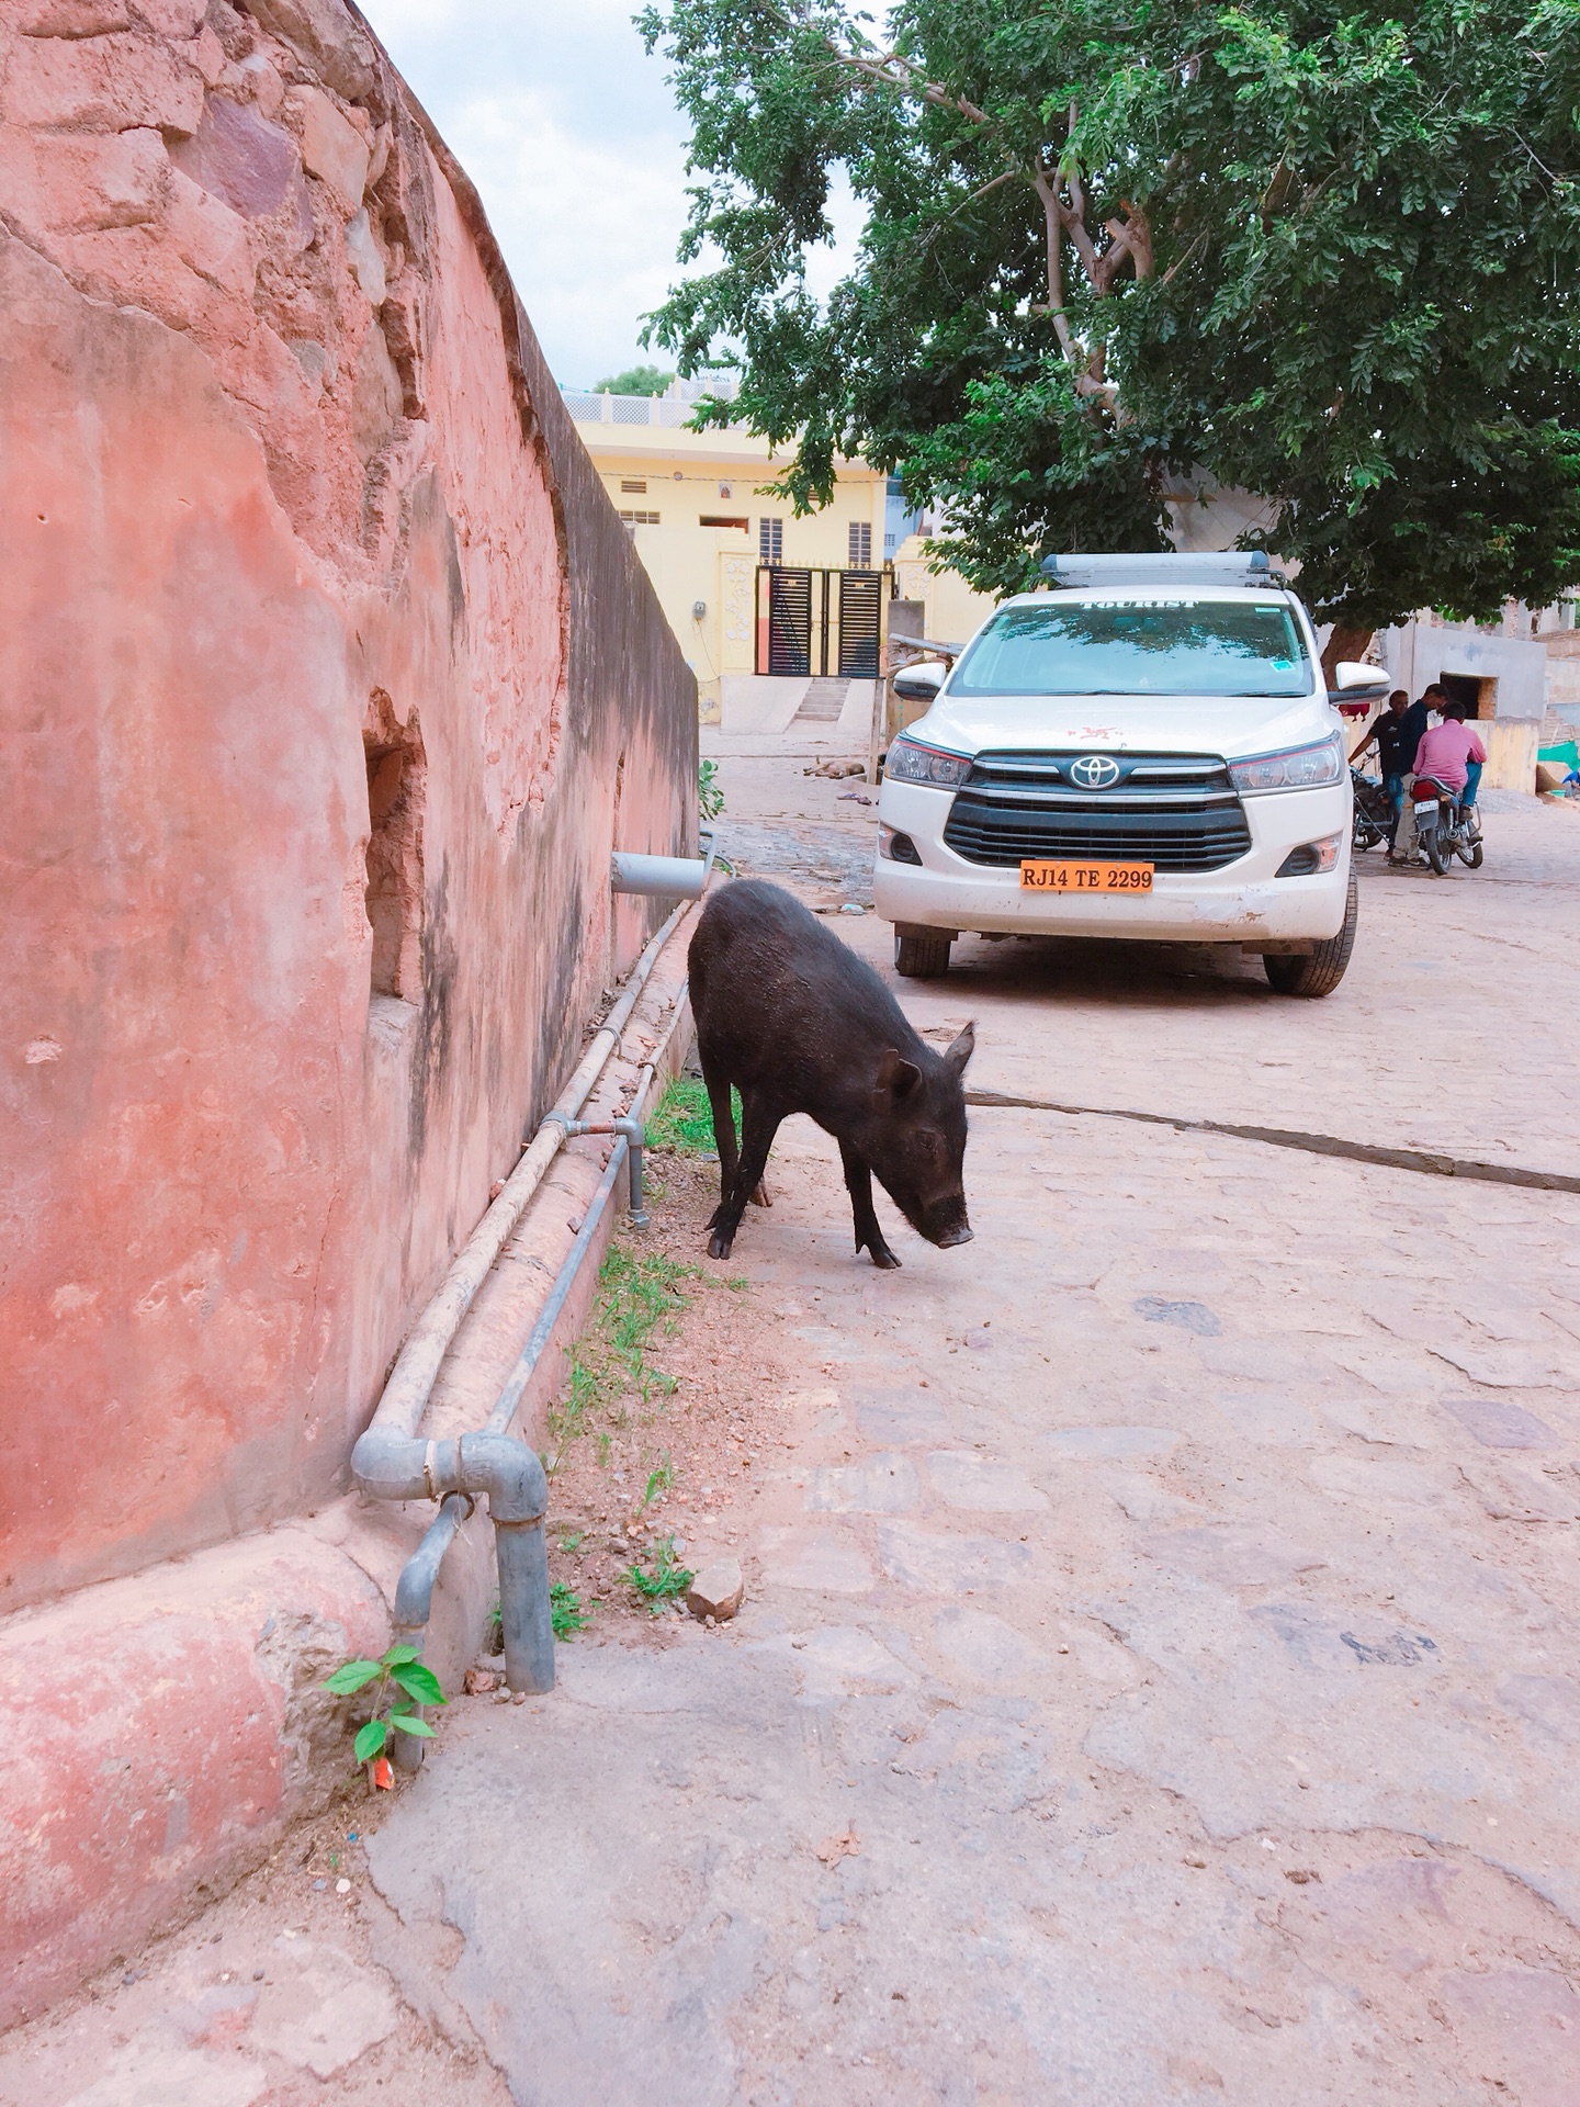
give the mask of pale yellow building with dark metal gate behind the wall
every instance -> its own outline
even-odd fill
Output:
[[[731,681],[872,678],[895,592],[927,605],[929,636],[977,626],[990,603],[933,577],[885,474],[841,461],[832,501],[796,518],[765,493],[788,457],[735,426],[687,430],[697,394],[676,381],[664,396],[565,390],[565,402],[697,674],[706,721]]]

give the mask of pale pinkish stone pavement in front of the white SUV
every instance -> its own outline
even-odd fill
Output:
[[[1508,801],[1365,872],[1327,1003],[975,942],[902,995],[977,1085],[1569,1169],[1576,879]],[[371,1839],[514,2096],[1580,2101],[1580,1199],[980,1110],[975,1243],[878,1275],[830,1144],[775,1165],[746,1610],[565,1648]]]

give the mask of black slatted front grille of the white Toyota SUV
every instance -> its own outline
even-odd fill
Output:
[[[1089,754],[1089,750],[1087,750]],[[944,843],[969,864],[1026,855],[1222,870],[1251,847],[1228,765],[1203,754],[1110,754],[1119,780],[1081,788],[1083,752],[977,754],[954,796]]]

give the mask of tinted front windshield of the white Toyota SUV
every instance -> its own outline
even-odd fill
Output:
[[[1310,695],[1285,600],[1053,600],[1007,607],[950,695]]]

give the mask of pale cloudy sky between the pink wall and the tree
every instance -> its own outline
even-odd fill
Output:
[[[636,0],[360,6],[478,185],[554,377],[651,358],[636,335],[676,276],[687,131]],[[817,265],[824,289],[838,259]]]

